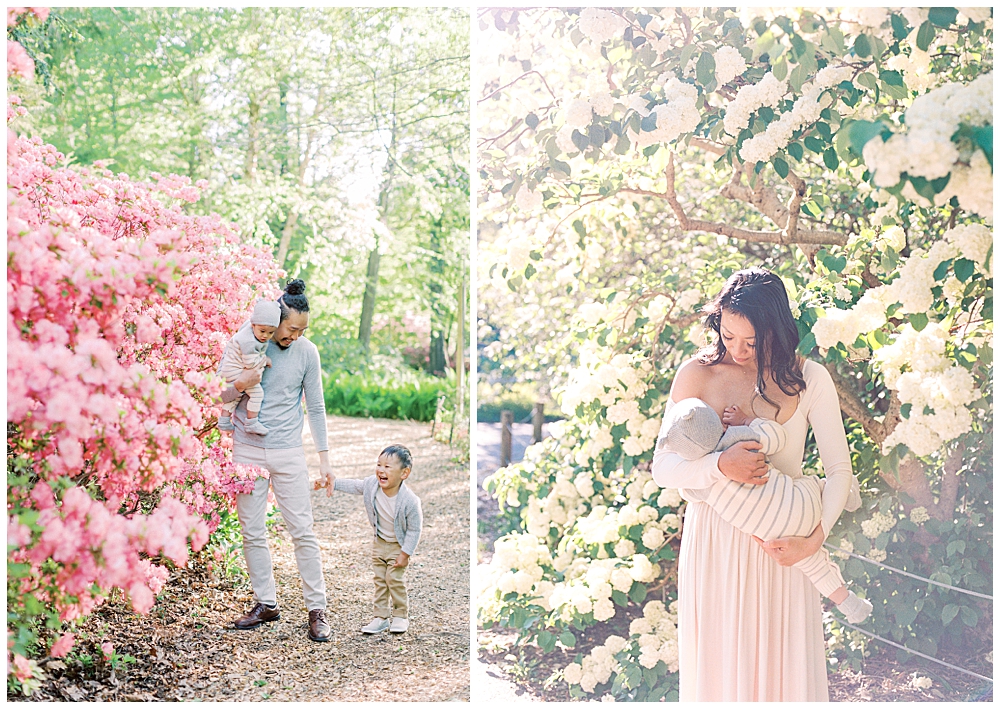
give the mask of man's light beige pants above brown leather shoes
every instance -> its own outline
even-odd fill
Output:
[[[233,445],[233,462],[266,468],[271,475],[270,480],[257,478],[252,494],[236,496],[236,510],[243,531],[243,557],[247,562],[254,601],[270,605],[278,602],[271,552],[267,546],[267,490],[270,487],[274,490],[274,500],[295,545],[295,561],[302,577],[306,608],[325,609],[326,584],[323,581],[319,542],[312,528],[309,471],[302,447],[274,449],[236,443]]]

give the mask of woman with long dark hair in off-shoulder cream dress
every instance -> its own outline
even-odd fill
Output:
[[[826,472],[822,521],[807,537],[763,541],[725,522],[699,491],[720,480],[762,484],[760,444],[685,460],[657,444],[653,477],[688,500],[678,567],[681,701],[826,701],[820,596],[792,564],[819,552],[854,479],[833,380],[796,354],[798,330],[784,284],[761,268],[733,274],[705,308],[715,341],[678,369],[667,412],[697,398],[723,420],[734,407],[770,419],[787,443],[770,456],[802,475],[810,426]]]

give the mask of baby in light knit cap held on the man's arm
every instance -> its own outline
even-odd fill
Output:
[[[258,300],[250,316],[250,327],[245,324],[226,344],[226,351],[219,364],[219,376],[224,377],[226,384],[232,384],[243,374],[245,369],[263,369],[271,364],[267,356],[267,345],[281,322],[281,306],[274,300]],[[249,395],[247,401],[247,424],[244,430],[258,436],[267,435],[267,428],[257,420],[261,404],[264,402],[264,389],[260,384],[247,387],[244,394]],[[239,405],[240,399],[222,405],[219,416],[219,430],[232,431],[233,411]]]

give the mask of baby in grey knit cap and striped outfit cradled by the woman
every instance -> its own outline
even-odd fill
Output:
[[[685,460],[695,460],[723,451],[741,441],[760,443],[760,452],[772,455],[787,441],[781,424],[746,416],[739,407],[726,412],[728,429],[715,410],[701,399],[684,399],[667,413],[658,445]],[[777,474],[772,474],[777,473]],[[791,478],[776,468],[768,470],[763,485],[722,480],[707,491],[705,502],[722,519],[741,532],[770,541],[786,536],[807,537],[822,516],[825,480],[813,475]],[[855,482],[855,485],[857,483]],[[857,509],[861,498],[852,487],[848,511]],[[860,623],[871,613],[872,604],[848,591],[840,568],[820,550],[796,563],[816,589],[837,604],[850,623]]]

